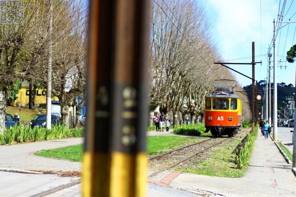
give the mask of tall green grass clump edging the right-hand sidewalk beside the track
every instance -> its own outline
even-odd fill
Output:
[[[250,163],[251,153],[254,147],[254,142],[257,136],[258,127],[255,128],[254,135],[252,133],[248,133],[247,141],[245,142],[244,146],[241,148],[241,151],[238,152],[237,149],[237,168],[243,169],[247,167]]]

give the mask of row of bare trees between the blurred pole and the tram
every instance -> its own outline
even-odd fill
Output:
[[[150,32],[149,107],[150,115],[159,106],[160,111],[193,117],[204,115],[204,97],[213,91],[217,79],[235,79],[221,65],[218,48],[212,41],[209,20],[196,1],[152,1]],[[243,90],[237,87],[237,90]],[[237,93],[243,102],[244,94]],[[187,108],[184,108],[184,105]],[[243,115],[250,118],[248,105]],[[150,124],[153,119],[150,118]]]

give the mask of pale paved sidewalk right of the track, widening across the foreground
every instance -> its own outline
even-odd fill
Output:
[[[242,178],[220,178],[165,171],[149,182],[215,196],[296,196],[296,178],[274,142],[258,132],[250,166]],[[152,169],[150,170],[152,171]],[[150,172],[151,173],[151,172]],[[175,175],[173,175],[175,173]],[[175,176],[175,178],[172,178]],[[207,193],[207,191],[210,191]],[[212,193],[212,194],[211,194]]]

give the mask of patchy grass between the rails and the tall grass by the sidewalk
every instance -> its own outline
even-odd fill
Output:
[[[177,167],[175,170],[216,177],[242,177],[247,168],[239,170],[229,167],[235,166],[235,148],[241,140],[228,140],[226,142],[228,145],[216,146],[206,156],[208,159],[193,159],[190,161],[192,167]]]

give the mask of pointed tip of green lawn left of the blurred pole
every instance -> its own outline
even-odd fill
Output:
[[[61,159],[70,159],[74,162],[82,161],[83,144],[67,146],[59,149],[42,150],[34,153],[42,157],[55,157]]]

